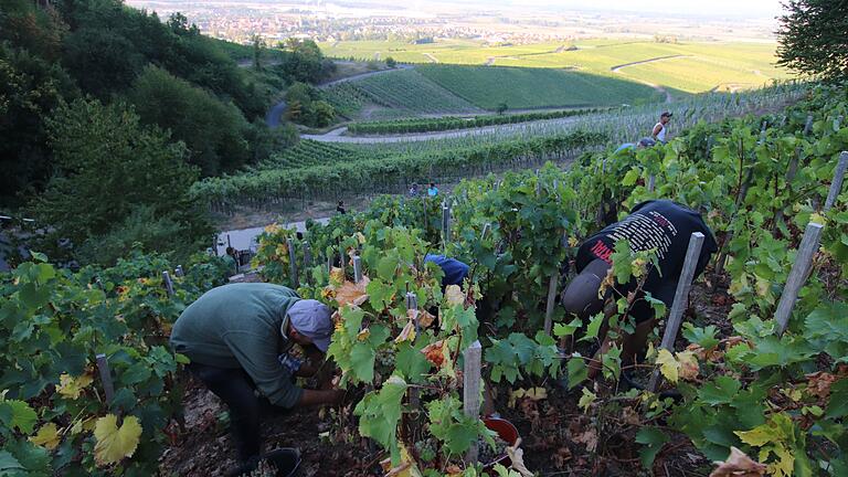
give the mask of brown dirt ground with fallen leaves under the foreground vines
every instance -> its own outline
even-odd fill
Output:
[[[709,276],[709,275],[708,275]],[[713,289],[709,280],[695,284],[687,319],[698,326],[716,325],[719,338],[730,336],[727,316],[732,298],[727,283]],[[677,349],[686,342],[678,338]],[[509,392],[520,386],[542,385],[547,399],[519,400],[509,405]],[[568,391],[553,381],[501,384],[496,391],[495,410],[512,422],[522,439],[524,463],[541,476],[647,476],[639,464],[639,445],[634,443],[638,425],[616,425],[615,432],[598,437],[597,422],[577,407],[580,386]],[[235,465],[226,428],[225,407],[201,383],[189,381],[184,399],[186,428],[178,435],[160,462],[162,476],[219,477]],[[349,404],[349,410],[353,404]],[[613,417],[615,420],[615,417]],[[298,447],[301,451],[301,477],[381,476],[378,465],[384,454],[369,443],[349,437],[348,444],[331,443],[325,436],[333,420],[327,410],[308,409],[286,415],[269,416],[263,426],[265,451]],[[661,423],[655,423],[661,424]],[[349,428],[352,428],[349,426]],[[338,430],[336,430],[338,431]],[[594,447],[593,451],[590,451]],[[674,434],[658,454],[654,475],[706,477],[710,463],[682,435]]]

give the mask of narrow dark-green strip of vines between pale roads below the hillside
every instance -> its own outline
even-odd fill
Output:
[[[386,135],[405,132],[431,132],[454,129],[478,128],[504,124],[528,123],[542,119],[556,119],[598,113],[598,108],[566,109],[542,113],[524,113],[512,115],[486,115],[474,117],[442,117],[423,119],[398,119],[391,121],[354,123],[348,126],[348,132],[353,135]]]

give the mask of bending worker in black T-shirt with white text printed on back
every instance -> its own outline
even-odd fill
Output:
[[[655,250],[658,269],[651,268],[649,271],[642,292],[634,297],[635,301],[629,315],[636,321],[636,329],[634,333],[626,336],[622,343],[623,363],[632,363],[636,354],[645,348],[648,333],[656,322],[654,309],[645,299],[645,293],[647,292],[653,298],[662,301],[666,307],[671,307],[677,283],[682,272],[686,251],[689,247],[689,239],[693,232],[701,232],[704,235],[695,273],[697,277],[703,272],[710,256],[718,250],[716,239],[701,215],[669,200],[651,200],[637,204],[626,219],[611,224],[581,244],[575,261],[577,276],[569,283],[563,292],[563,307],[583,320],[604,310],[606,299],[612,297],[615,292],[608,289],[601,297],[598,297],[598,292],[601,283],[612,267],[611,256],[616,242],[628,241],[633,252]],[[635,279],[629,284],[616,285],[615,288],[618,293],[616,298],[627,296],[635,287]],[[615,309],[611,311],[614,312]],[[598,339],[602,342],[600,354],[603,354],[611,343],[601,335],[598,335]],[[596,373],[597,368],[593,371]]]

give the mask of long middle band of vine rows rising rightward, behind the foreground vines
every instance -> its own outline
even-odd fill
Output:
[[[805,91],[803,84],[787,83],[738,95],[696,96],[664,106],[675,114],[675,128],[682,130],[699,121],[777,109]],[[301,140],[294,148],[242,172],[200,181],[193,186],[192,193],[221,213],[232,213],[240,206],[273,210],[287,201],[394,193],[405,191],[413,182],[456,181],[489,172],[534,168],[547,160],[564,163],[582,152],[638,140],[654,126],[657,114],[655,105],[645,105],[565,119],[504,125],[502,131],[398,144],[319,145]],[[568,124],[563,124],[566,120]]]

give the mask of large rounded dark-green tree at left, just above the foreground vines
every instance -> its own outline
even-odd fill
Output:
[[[144,126],[125,105],[64,104],[47,120],[47,136],[55,174],[30,209],[49,226],[49,239],[91,244],[125,229],[118,235],[131,243],[131,232],[140,233],[138,224],[150,218],[163,232],[155,234],[156,243],[145,232],[147,251],[170,251],[176,242],[193,245],[211,233],[203,209],[189,197],[199,174],[186,163],[186,146]]]

